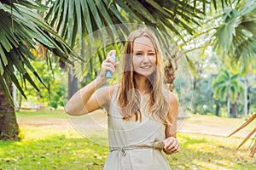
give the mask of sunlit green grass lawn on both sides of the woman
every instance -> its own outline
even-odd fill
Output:
[[[108,146],[93,142],[107,141],[107,133],[92,137],[92,132],[84,138],[65,127],[20,127],[20,131],[21,141],[0,141],[0,169],[102,169],[108,156]],[[255,157],[248,156],[249,143],[236,150],[241,138],[197,133],[178,133],[177,138],[182,150],[166,156],[173,169],[256,169]]]

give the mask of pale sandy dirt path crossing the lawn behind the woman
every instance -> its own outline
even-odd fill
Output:
[[[44,128],[86,128],[86,129],[107,129],[107,116],[103,112],[96,112],[81,117],[17,117],[20,127],[44,127]],[[220,118],[214,116],[191,116],[190,118],[178,120],[177,130],[182,133],[205,133],[218,136],[228,136],[243,121],[238,119]],[[233,136],[246,137],[247,134],[256,126],[253,122],[245,129],[242,129]]]

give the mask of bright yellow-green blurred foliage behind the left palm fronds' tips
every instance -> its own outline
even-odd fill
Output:
[[[33,105],[48,107],[51,109],[63,108],[63,99],[67,97],[67,87],[63,83],[63,77],[67,77],[67,71],[61,71],[58,64],[52,63],[52,67],[45,64],[44,60],[32,62],[41,76],[42,83],[38,82],[39,91],[33,89],[30,84],[26,85],[26,96]]]

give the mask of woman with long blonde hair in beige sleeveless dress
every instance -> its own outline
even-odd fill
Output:
[[[176,153],[177,97],[163,86],[162,56],[156,37],[148,29],[131,32],[125,43],[121,82],[98,88],[106,71],[118,63],[110,56],[100,76],[67,102],[73,116],[105,107],[108,111],[109,150],[104,169],[170,169],[165,156]],[[98,89],[96,89],[98,88]]]

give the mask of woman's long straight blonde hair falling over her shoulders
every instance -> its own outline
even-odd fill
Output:
[[[148,77],[148,88],[150,91],[150,98],[148,101],[148,116],[163,122],[164,124],[169,124],[167,121],[168,113],[168,103],[167,99],[163,94],[163,59],[160,54],[159,43],[154,36],[153,31],[146,28],[139,29],[137,31],[132,31],[129,35],[127,41],[125,42],[125,49],[123,55],[123,67],[121,75],[121,84],[119,88],[118,105],[120,108],[121,116],[123,120],[128,121],[132,116],[135,117],[135,121],[139,120],[142,122],[142,113],[140,111],[140,101],[141,96],[136,90],[135,74],[132,65],[132,55],[133,55],[133,44],[135,39],[138,37],[148,37],[152,42],[156,54],[156,70]]]

